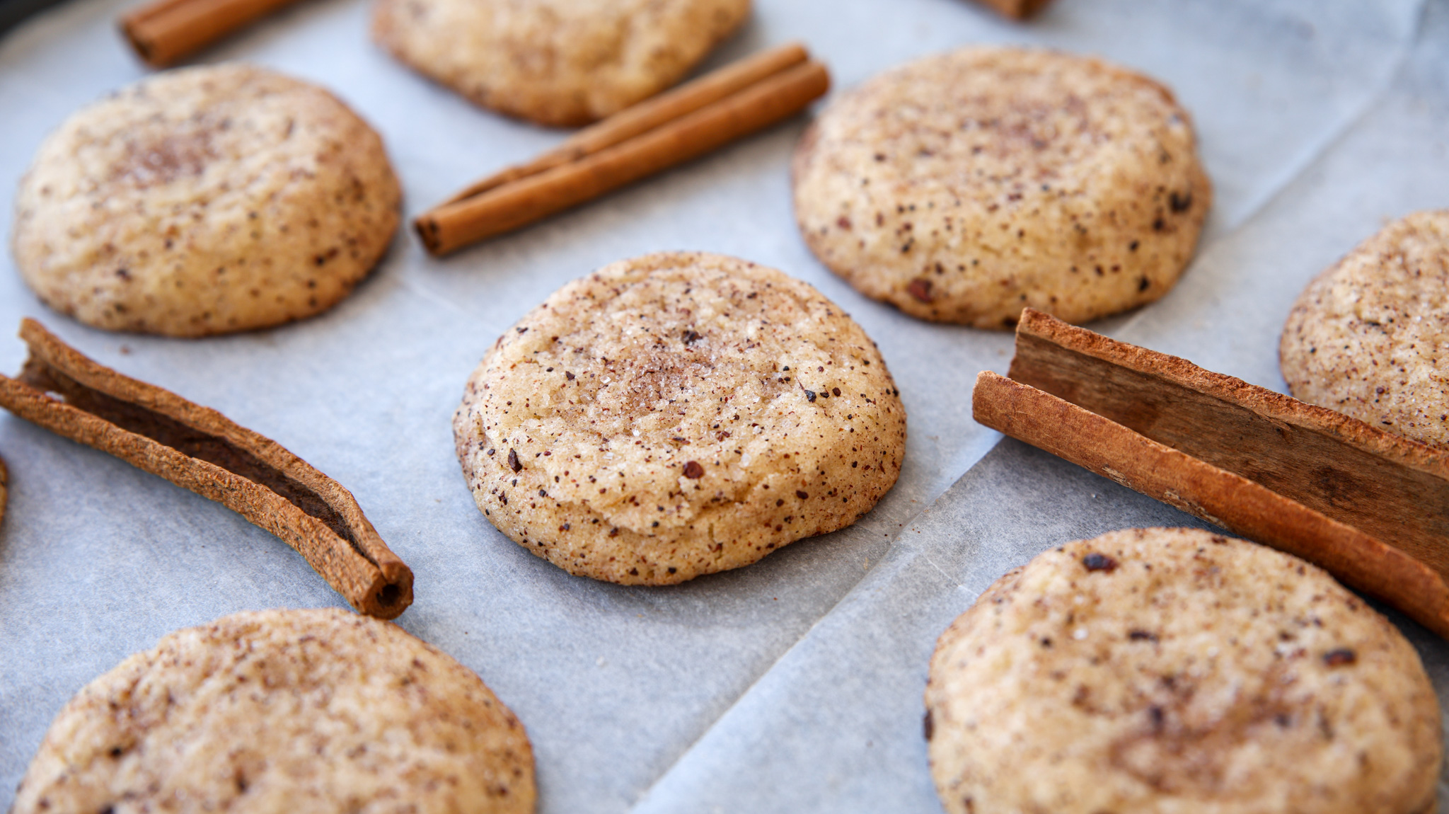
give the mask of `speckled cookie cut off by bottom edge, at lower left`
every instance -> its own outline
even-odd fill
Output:
[[[164,636],[55,717],[13,814],[526,814],[523,726],[468,668],[339,608]]]

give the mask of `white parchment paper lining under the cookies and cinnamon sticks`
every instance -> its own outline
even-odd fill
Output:
[[[0,188],[14,188],[74,109],[143,75],[114,32],[126,4],[72,0],[0,39]],[[387,140],[409,214],[565,136],[480,112],[394,64],[368,42],[367,10],[307,0],[203,59],[249,59],[338,93]],[[1058,0],[1026,26],[961,0],[756,0],[710,65],[790,39],[830,65],[838,88],[1000,41],[1098,54],[1174,87],[1216,185],[1203,246],[1164,301],[1093,327],[1275,390],[1278,332],[1308,278],[1382,219],[1449,206],[1446,0]],[[951,618],[1064,540],[1197,521],[997,445],[971,420],[969,391],[978,371],[1006,369],[1010,335],[911,320],[810,256],[788,188],[806,122],[443,261],[400,235],[333,311],[243,336],[83,327],[41,306],[6,253],[0,335],[38,317],[352,490],[417,576],[398,624],[477,671],[527,727],[540,811],[939,811],[920,692]],[[0,198],[9,223],[13,200]],[[449,416],[485,348],[527,309],[658,249],[727,252],[819,287],[880,343],[910,440],[900,482],[856,526],[681,587],[620,588],[569,576],[485,521]],[[0,371],[23,358],[0,337]],[[12,478],[0,807],[51,717],[128,653],[236,610],[343,604],[275,537],[106,455],[3,414],[0,455]],[[1449,687],[1449,647],[1392,618]]]

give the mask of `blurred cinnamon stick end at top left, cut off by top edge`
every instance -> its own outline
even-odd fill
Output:
[[[148,65],[165,68],[294,1],[155,0],[128,12],[120,30]]]

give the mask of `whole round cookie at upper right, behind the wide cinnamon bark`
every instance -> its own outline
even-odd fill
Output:
[[[1188,114],[1100,59],[965,48],[832,103],[794,156],[796,219],[862,294],[936,322],[1085,322],[1162,297],[1213,198]]]

